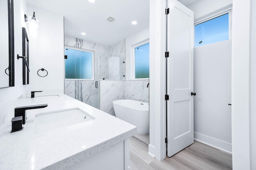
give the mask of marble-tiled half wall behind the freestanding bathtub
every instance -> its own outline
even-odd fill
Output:
[[[121,99],[149,102],[148,80],[101,80],[100,110],[115,115],[112,102]]]

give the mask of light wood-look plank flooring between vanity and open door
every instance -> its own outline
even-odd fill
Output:
[[[136,136],[147,141],[143,136]],[[195,141],[171,158],[159,161],[148,155],[148,144],[130,138],[131,170],[231,170],[232,154]]]

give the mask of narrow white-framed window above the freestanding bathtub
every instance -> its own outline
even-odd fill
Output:
[[[134,78],[149,78],[149,42],[134,46]]]

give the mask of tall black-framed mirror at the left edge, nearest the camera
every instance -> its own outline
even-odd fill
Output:
[[[13,0],[0,1],[0,20],[0,88],[4,88],[14,86]]]

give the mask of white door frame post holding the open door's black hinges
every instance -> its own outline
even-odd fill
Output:
[[[150,144],[148,154],[166,158],[166,14],[167,0],[150,0]],[[160,68],[160,69],[159,69]],[[154,103],[154,105],[152,105]]]

